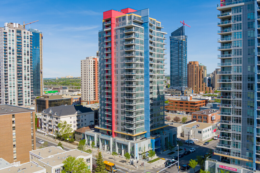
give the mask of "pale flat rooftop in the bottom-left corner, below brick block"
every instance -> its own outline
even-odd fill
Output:
[[[0,169],[1,173],[16,173],[16,172],[34,173],[34,172],[45,172],[45,171],[46,171],[45,168],[33,162],[27,162],[17,166],[11,165],[10,167]]]

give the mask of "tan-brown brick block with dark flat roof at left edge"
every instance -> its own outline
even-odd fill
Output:
[[[35,111],[0,105],[0,156],[9,163],[29,162],[29,151],[36,149]]]

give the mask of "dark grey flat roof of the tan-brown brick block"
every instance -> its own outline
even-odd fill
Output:
[[[0,115],[23,113],[23,112],[33,112],[33,111],[34,111],[34,109],[23,108],[23,107],[19,107],[19,106],[6,105],[6,104],[0,105]]]

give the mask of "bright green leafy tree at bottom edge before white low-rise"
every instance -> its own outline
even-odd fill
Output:
[[[88,169],[87,163],[84,161],[83,158],[75,158],[69,156],[64,160],[63,162],[63,167],[62,173],[67,173],[67,172],[72,172],[72,173],[91,173],[90,170]]]

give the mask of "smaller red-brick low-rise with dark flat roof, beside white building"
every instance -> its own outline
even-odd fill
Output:
[[[220,112],[216,109],[204,109],[191,114],[191,120],[215,124],[220,120]]]

